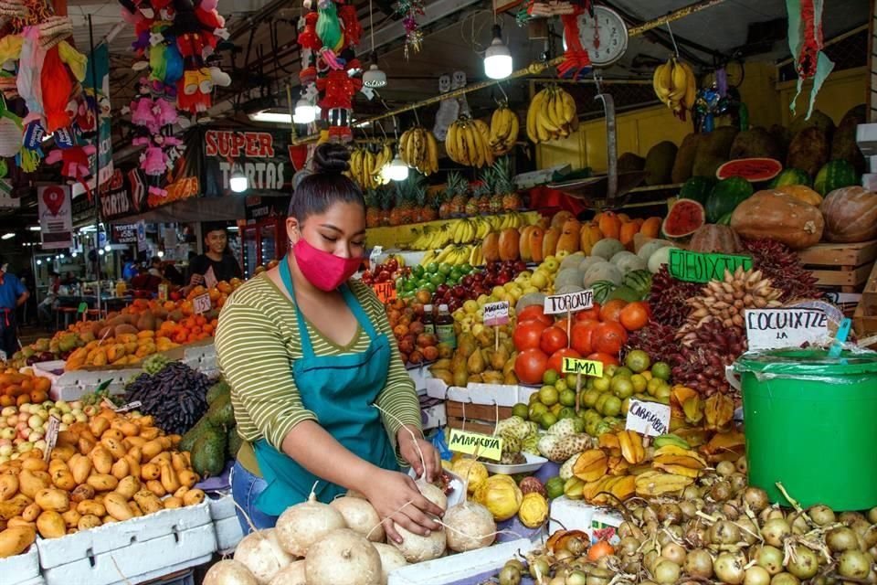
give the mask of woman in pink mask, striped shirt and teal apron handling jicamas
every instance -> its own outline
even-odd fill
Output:
[[[394,523],[427,535],[439,528],[428,515],[441,510],[400,465],[429,481],[441,465],[423,438],[384,307],[349,280],[365,254],[363,195],[343,176],[349,157],[336,144],[318,147],[315,171],[291,200],[291,253],[240,287],[220,314],[217,355],[244,439],[232,493],[264,528],[314,484],[322,502],[355,490],[401,541]],[[248,532],[246,520],[241,526]]]

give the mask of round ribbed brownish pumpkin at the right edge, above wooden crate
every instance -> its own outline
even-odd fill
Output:
[[[860,242],[877,238],[877,193],[861,186],[835,189],[822,202],[825,238]]]

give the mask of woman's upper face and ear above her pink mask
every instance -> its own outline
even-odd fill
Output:
[[[365,256],[365,209],[353,202],[338,202],[322,213],[305,218],[287,218],[287,234],[292,245],[304,238],[317,250],[341,258]]]

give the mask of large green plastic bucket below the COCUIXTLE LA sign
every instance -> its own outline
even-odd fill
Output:
[[[787,505],[864,510],[877,505],[877,354],[829,358],[820,349],[745,354],[749,484]]]

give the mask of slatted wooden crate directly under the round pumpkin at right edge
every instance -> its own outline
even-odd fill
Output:
[[[820,288],[859,293],[877,260],[877,239],[858,244],[817,244],[798,252]]]

